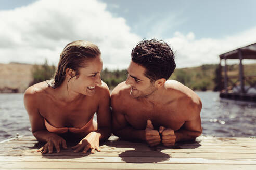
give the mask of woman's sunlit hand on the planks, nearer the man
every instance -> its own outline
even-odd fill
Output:
[[[97,132],[89,133],[85,138],[83,138],[80,143],[71,147],[75,149],[74,152],[78,153],[80,150],[83,150],[82,153],[85,154],[89,149],[91,149],[91,153],[95,153],[95,149],[100,152],[99,149],[99,137],[100,134]]]

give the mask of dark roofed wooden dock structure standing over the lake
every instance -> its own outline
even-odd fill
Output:
[[[227,59],[239,60],[239,75],[228,76]],[[241,100],[256,102],[256,93],[251,93],[250,90],[256,89],[256,75],[245,75],[243,59],[256,59],[256,43],[226,52],[220,55],[219,76],[222,77],[221,61],[225,61],[224,65],[224,90],[220,93],[221,98],[228,98],[232,100]],[[238,78],[238,79],[237,79]],[[235,79],[232,80],[232,79]],[[222,82],[220,82],[222,83]],[[248,84],[246,88],[245,85]],[[236,90],[236,91],[234,91]]]

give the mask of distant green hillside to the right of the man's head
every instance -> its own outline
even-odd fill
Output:
[[[219,70],[217,70],[217,68],[219,68],[218,64],[206,64],[199,67],[175,69],[170,79],[180,81],[193,90],[214,90],[218,89],[217,86],[220,86],[222,89],[224,87],[224,80],[220,79]],[[228,77],[235,82],[235,80],[238,80],[238,75],[239,65],[228,65]],[[245,64],[244,75],[256,75],[256,64]],[[222,78],[223,77],[224,67],[222,67]],[[255,82],[256,79],[251,79],[251,81]],[[245,82],[245,84],[248,83]]]

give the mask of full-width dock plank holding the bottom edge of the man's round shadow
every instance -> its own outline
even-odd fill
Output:
[[[251,164],[256,165],[256,159],[204,159],[204,158],[170,158],[170,157],[75,157],[67,156],[43,157],[33,156],[0,156],[0,162],[129,162],[129,163],[188,163],[188,164]]]

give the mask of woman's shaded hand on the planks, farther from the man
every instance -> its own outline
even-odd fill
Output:
[[[57,134],[50,135],[50,137],[47,138],[46,144],[41,147],[37,152],[41,152],[42,154],[47,153],[53,153],[53,147],[55,147],[57,153],[60,152],[60,146],[62,146],[63,149],[67,149],[66,140],[64,140],[62,137],[60,137]]]

